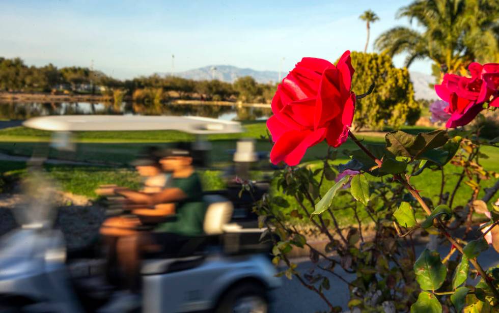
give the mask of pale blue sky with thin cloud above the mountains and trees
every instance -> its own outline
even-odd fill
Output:
[[[334,62],[363,50],[372,9],[372,42],[395,25],[406,0],[329,1],[6,1],[0,0],[0,56],[29,65],[90,66],[118,78],[207,65],[283,72],[303,56]],[[394,60],[402,66],[404,56]],[[430,62],[412,71],[430,73]]]

